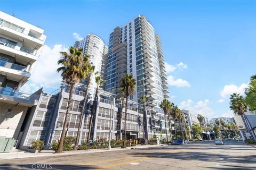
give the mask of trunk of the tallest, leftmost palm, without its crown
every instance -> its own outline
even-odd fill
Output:
[[[66,127],[67,127],[67,121],[68,121],[68,114],[69,114],[69,111],[70,111],[71,101],[72,101],[73,92],[74,92],[74,86],[75,86],[75,84],[71,84],[71,86],[70,86],[69,98],[68,98],[68,106],[67,106],[66,116],[65,116],[65,120],[64,120],[64,124],[63,124],[63,129],[62,129],[62,133],[61,133],[58,149],[56,151],[57,153],[62,153],[63,152],[63,142],[64,142],[64,138],[65,138],[65,135],[66,135]]]

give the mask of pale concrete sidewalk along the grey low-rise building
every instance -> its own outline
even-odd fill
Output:
[[[127,147],[127,149],[141,149],[141,148],[150,148],[150,147],[159,147],[163,145],[146,145],[141,146],[137,145],[135,147]],[[167,146],[167,145],[166,145]],[[71,150],[65,151],[63,154],[54,154],[54,153],[30,153],[25,151],[15,151],[15,152],[8,152],[8,153],[0,153],[0,160],[4,159],[19,159],[19,158],[29,158],[29,157],[41,157],[41,156],[62,156],[62,155],[76,155],[76,154],[92,154],[97,152],[109,152],[109,151],[118,151],[124,150],[122,148],[111,148],[108,149],[89,149],[89,150]]]

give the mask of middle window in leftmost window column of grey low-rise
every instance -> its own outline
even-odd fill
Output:
[[[47,127],[50,120],[51,112],[37,111],[33,126]]]

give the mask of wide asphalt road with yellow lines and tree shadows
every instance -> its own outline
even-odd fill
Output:
[[[256,169],[256,148],[213,141],[94,154],[0,160],[0,169]]]

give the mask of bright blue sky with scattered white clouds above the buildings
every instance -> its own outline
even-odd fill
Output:
[[[42,55],[23,91],[52,92],[59,52],[89,33],[108,37],[145,15],[161,37],[170,101],[206,117],[233,116],[229,96],[256,74],[256,1],[12,1],[0,10],[45,30]]]

